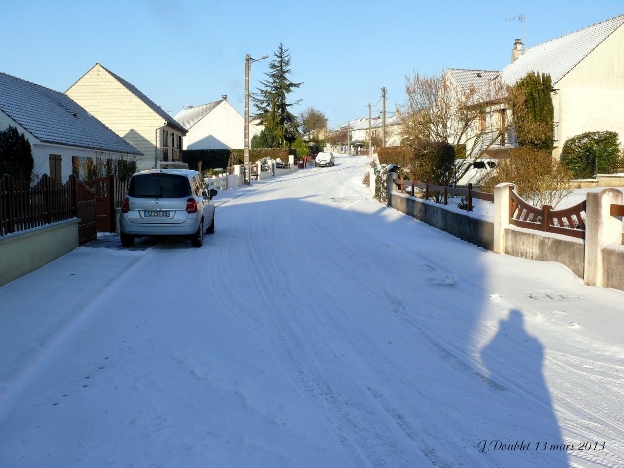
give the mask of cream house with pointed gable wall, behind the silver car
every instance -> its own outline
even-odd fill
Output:
[[[137,87],[95,64],[65,92],[117,135],[139,149],[139,169],[182,160],[187,130]]]

